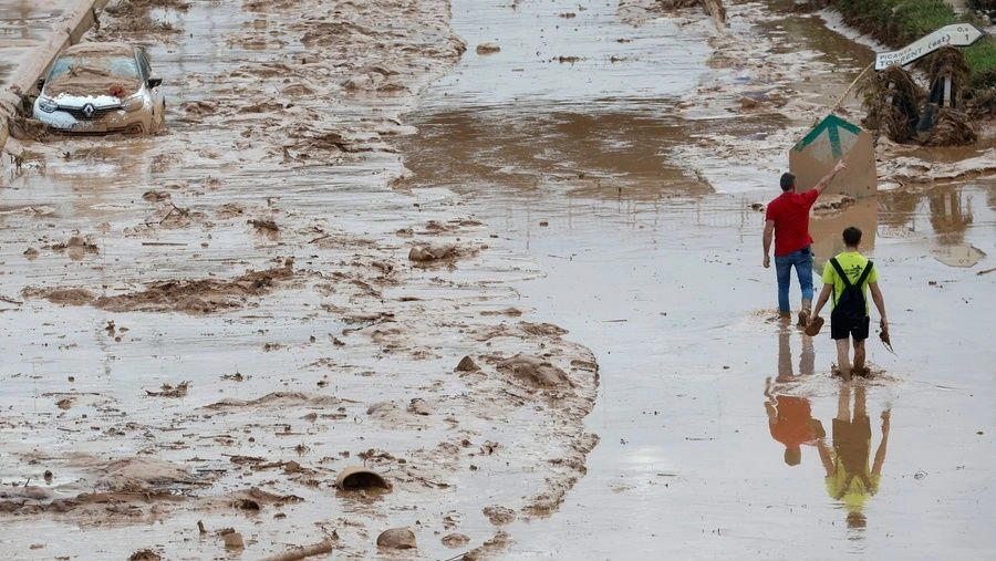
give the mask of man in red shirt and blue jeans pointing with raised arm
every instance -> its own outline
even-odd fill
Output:
[[[778,311],[782,315],[791,314],[789,308],[789,283],[792,268],[799,278],[802,289],[802,309],[799,310],[799,324],[809,322],[812,305],[812,236],[809,235],[809,210],[816,199],[823,193],[838,173],[848,166],[840,160],[833,169],[823,176],[812,189],[805,193],[796,190],[796,176],[789,173],[781,175],[781,195],[768,204],[765,211],[765,269],[771,267],[771,239],[775,239],[775,276],[778,279]]]

